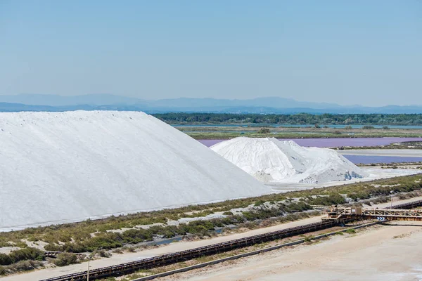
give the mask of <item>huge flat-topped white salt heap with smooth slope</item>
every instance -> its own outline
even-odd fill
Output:
[[[0,229],[270,192],[143,112],[0,113]]]

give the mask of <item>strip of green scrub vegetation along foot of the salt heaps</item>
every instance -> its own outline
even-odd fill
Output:
[[[15,244],[23,239],[33,242],[44,241],[46,250],[66,251],[68,253],[101,252],[101,249],[132,249],[127,245],[138,244],[153,237],[175,237],[177,235],[197,235],[198,237],[215,235],[215,228],[237,225],[238,228],[256,228],[269,226],[273,223],[295,221],[310,215],[318,214],[311,211],[310,205],[344,204],[353,200],[359,202],[384,202],[389,200],[393,191],[399,198],[412,196],[411,192],[422,190],[422,175],[402,176],[371,182],[337,185],[327,188],[314,188],[278,194],[250,197],[239,200],[228,200],[212,204],[165,209],[127,216],[112,216],[98,221],[83,221],[58,226],[27,228],[25,230],[0,233],[2,244]],[[413,195],[415,196],[415,195]],[[241,213],[233,213],[231,209],[250,207]],[[225,218],[212,218],[207,221],[191,221],[179,226],[169,226],[168,220],[186,217],[186,214],[212,214],[224,212]],[[151,226],[148,229],[139,225],[163,223],[162,226]],[[109,232],[121,228],[131,228],[121,232]],[[107,256],[107,251],[102,251]],[[117,252],[117,251],[116,251]],[[101,256],[101,253],[100,253]],[[0,254],[1,270],[5,273],[13,270],[25,270],[42,266],[45,260],[44,252],[31,247],[12,251],[11,254]],[[31,261],[31,262],[28,262]],[[56,259],[57,265],[77,262],[75,256],[66,254]],[[3,274],[5,274],[3,273]]]

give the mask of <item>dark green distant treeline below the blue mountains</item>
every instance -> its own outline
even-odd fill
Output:
[[[348,114],[348,115],[260,115],[229,113],[162,113],[153,114],[167,123],[266,123],[266,124],[333,124],[333,125],[422,125],[422,114]]]

